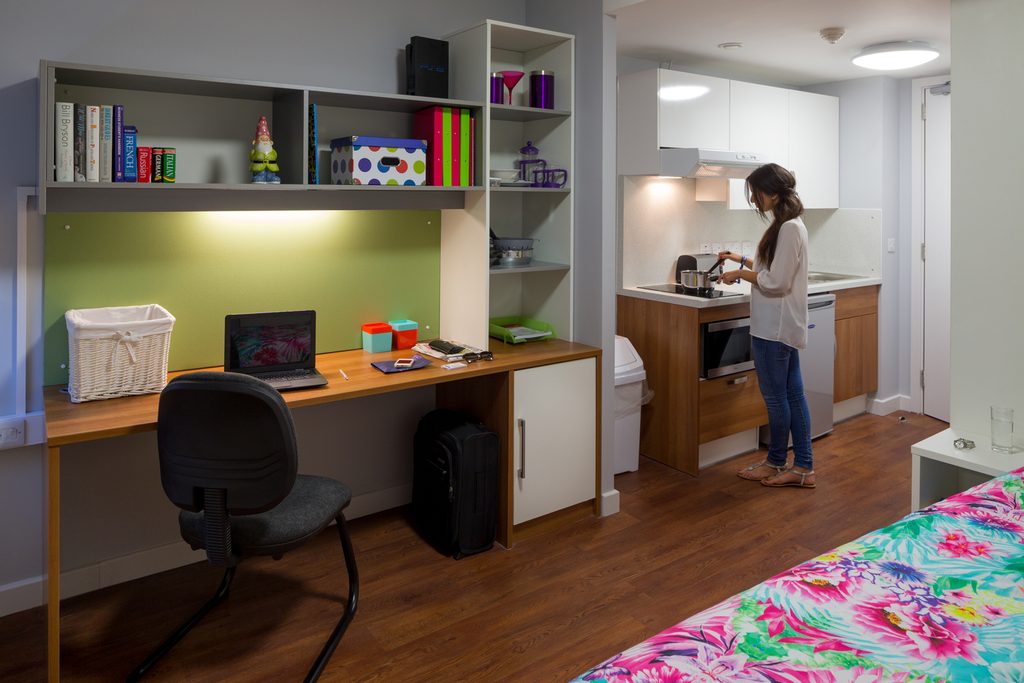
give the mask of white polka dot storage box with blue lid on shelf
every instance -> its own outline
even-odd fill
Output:
[[[426,183],[426,140],[368,135],[350,135],[331,140],[331,184]]]

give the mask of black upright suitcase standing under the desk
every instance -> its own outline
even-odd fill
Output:
[[[495,544],[498,434],[472,417],[437,410],[416,429],[413,521],[421,536],[460,559]]]

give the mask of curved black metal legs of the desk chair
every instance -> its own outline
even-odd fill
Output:
[[[355,552],[352,549],[352,540],[348,536],[348,526],[345,523],[345,515],[339,513],[335,520],[337,521],[338,536],[341,539],[341,547],[345,554],[345,569],[348,572],[348,601],[345,604],[345,611],[342,613],[341,618],[338,620],[337,626],[334,627],[334,631],[331,633],[331,637],[328,638],[328,641],[324,644],[324,648],[316,656],[316,660],[313,661],[312,667],[310,667],[309,673],[306,674],[306,678],[304,679],[306,683],[313,683],[319,679],[321,674],[324,673],[324,669],[327,668],[327,664],[331,659],[331,655],[334,654],[335,649],[337,649],[338,644],[341,642],[342,636],[345,635],[348,625],[351,624],[352,618],[355,616],[355,609],[358,606],[359,573],[355,566]],[[156,665],[165,654],[167,654],[171,648],[177,645],[178,642],[184,638],[185,635],[191,631],[193,628],[199,624],[211,609],[216,607],[227,597],[231,581],[234,579],[236,569],[237,567],[234,566],[227,567],[227,570],[224,571],[223,579],[220,581],[220,586],[217,588],[217,592],[213,595],[213,597],[207,600],[195,614],[189,616],[174,633],[168,636],[167,639],[164,640],[164,642],[161,643],[160,646],[155,649],[142,664],[129,674],[126,679],[127,683],[135,683],[135,681],[138,681],[145,676],[145,674],[153,669],[153,666]]]

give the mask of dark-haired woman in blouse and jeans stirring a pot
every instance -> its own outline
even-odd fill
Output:
[[[766,164],[746,178],[751,204],[765,220],[755,258],[733,252],[720,257],[739,263],[722,275],[731,284],[745,280],[751,287],[751,347],[754,367],[768,409],[771,438],[768,456],[739,470],[744,479],[766,486],[814,488],[810,412],[800,374],[799,349],[807,346],[807,228],[800,216],[804,205],[793,174],[777,164]],[[743,270],[743,266],[750,270]],[[793,467],[785,452],[793,434]]]

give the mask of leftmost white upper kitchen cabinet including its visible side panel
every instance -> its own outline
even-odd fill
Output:
[[[729,81],[667,69],[618,78],[618,173],[657,175],[662,147],[729,148]]]

